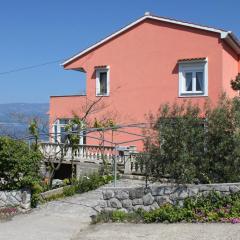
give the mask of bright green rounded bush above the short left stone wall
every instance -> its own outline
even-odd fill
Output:
[[[31,187],[39,181],[41,153],[23,141],[0,137],[0,190]]]

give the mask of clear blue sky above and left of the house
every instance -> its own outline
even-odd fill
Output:
[[[8,0],[0,5],[0,103],[48,102],[82,93],[83,76],[54,63],[141,17],[144,12],[232,30],[240,37],[239,0]]]

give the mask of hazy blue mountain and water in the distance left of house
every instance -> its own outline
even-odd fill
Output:
[[[28,124],[33,118],[47,126],[48,103],[8,103],[0,104],[0,135],[16,138],[28,135]]]

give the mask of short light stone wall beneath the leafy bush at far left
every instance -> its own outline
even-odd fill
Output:
[[[18,207],[20,210],[31,208],[31,194],[29,191],[0,191],[0,209]]]

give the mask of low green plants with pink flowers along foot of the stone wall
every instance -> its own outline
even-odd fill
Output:
[[[220,196],[212,192],[208,196],[188,198],[183,207],[165,204],[158,209],[146,212],[137,210],[125,213],[117,210],[102,212],[93,223],[98,222],[240,222],[240,192]]]

